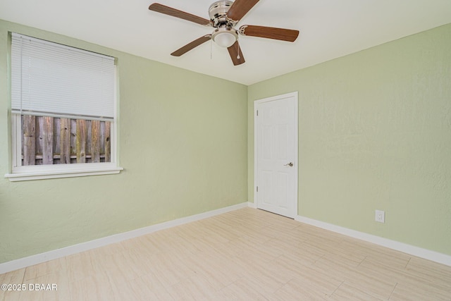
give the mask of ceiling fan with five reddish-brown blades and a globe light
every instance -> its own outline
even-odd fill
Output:
[[[266,37],[268,39],[279,39],[287,42],[295,42],[299,35],[299,30],[256,25],[242,25],[239,30],[235,30],[235,25],[252,7],[254,7],[255,4],[257,4],[258,1],[259,0],[216,1],[214,4],[211,4],[209,8],[210,20],[158,3],[151,4],[149,10],[216,28],[211,35],[204,35],[199,37],[199,39],[194,39],[194,41],[175,50],[171,54],[172,56],[181,56],[204,42],[213,40],[219,46],[228,49],[233,65],[237,66],[245,63],[240,44],[238,44],[238,34],[252,37]]]

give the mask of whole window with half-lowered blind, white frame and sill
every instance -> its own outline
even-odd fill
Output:
[[[111,56],[11,35],[10,180],[119,173]]]

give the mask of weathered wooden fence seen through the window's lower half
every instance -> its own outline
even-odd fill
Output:
[[[22,165],[111,161],[111,123],[22,116]]]

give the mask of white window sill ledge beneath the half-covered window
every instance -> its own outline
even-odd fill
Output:
[[[18,171],[13,173],[7,173],[5,178],[8,178],[11,182],[23,181],[23,180],[43,180],[51,178],[73,178],[84,176],[99,176],[99,175],[111,175],[120,173],[123,168],[112,166],[102,166],[103,164],[78,164],[79,166],[73,166],[75,168],[68,169],[67,166],[49,166],[42,168],[43,166],[26,166],[25,168],[17,168]],[[30,168],[32,167],[32,168]],[[72,167],[72,166],[71,166]]]

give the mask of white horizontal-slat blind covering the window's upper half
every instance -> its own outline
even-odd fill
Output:
[[[13,33],[13,113],[113,121],[114,58]]]

